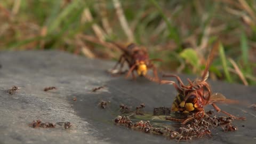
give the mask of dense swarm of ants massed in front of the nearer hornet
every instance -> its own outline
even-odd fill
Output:
[[[194,119],[186,125],[181,125],[175,129],[170,129],[169,127],[159,127],[159,125],[154,126],[150,124],[150,121],[139,121],[132,122],[131,116],[117,116],[114,122],[118,125],[123,125],[129,127],[133,130],[138,130],[145,133],[153,133],[163,135],[169,139],[174,139],[177,141],[180,140],[192,140],[194,138],[203,138],[212,137],[211,129],[221,127],[224,132],[227,131],[236,131],[237,127],[234,126],[231,122],[233,121],[232,117],[224,116],[211,116],[212,111],[205,113],[204,117],[197,120]]]

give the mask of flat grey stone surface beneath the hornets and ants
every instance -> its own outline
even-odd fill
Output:
[[[132,131],[116,126],[119,104],[136,107],[146,104],[146,111],[154,107],[170,107],[176,91],[172,85],[158,85],[139,77],[137,81],[124,76],[112,77],[106,69],[114,62],[90,60],[57,51],[22,51],[0,53],[0,143],[170,143],[157,135]],[[187,76],[181,75],[186,81]],[[211,82],[212,90],[227,98],[256,103],[256,87]],[[8,89],[18,86],[17,93]],[[94,87],[105,85],[96,93]],[[55,86],[57,90],[43,91]],[[77,98],[76,101],[73,101]],[[110,101],[100,109],[101,100]],[[246,121],[235,121],[236,132],[212,132],[212,138],[191,143],[255,143],[256,111],[244,105],[218,105]],[[212,109],[207,106],[207,109]],[[70,129],[33,129],[29,123],[71,122]]]

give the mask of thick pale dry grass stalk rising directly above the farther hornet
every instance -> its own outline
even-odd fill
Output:
[[[133,37],[133,33],[132,33],[132,30],[130,29],[127,21],[126,21],[126,18],[124,16],[124,12],[123,12],[123,9],[121,7],[121,4],[119,2],[119,0],[113,0],[113,3],[114,3],[114,6],[115,6],[115,9],[116,9],[116,14],[117,14],[117,17],[121,23],[121,26],[126,34],[126,36],[128,37],[128,41],[129,42],[134,42],[134,37]]]

